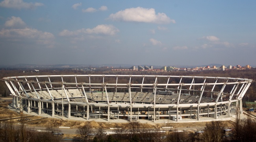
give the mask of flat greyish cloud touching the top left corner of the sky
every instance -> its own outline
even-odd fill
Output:
[[[35,2],[35,3],[28,3],[28,2],[23,2],[23,0],[4,0],[0,2],[1,7],[6,7],[6,8],[14,8],[14,9],[33,9],[38,6],[43,6],[44,4]]]

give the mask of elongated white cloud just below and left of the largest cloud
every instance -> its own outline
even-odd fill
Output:
[[[113,25],[98,25],[95,28],[82,28],[76,31],[63,30],[59,33],[60,36],[76,36],[80,34],[102,34],[102,35],[115,35],[119,30]]]

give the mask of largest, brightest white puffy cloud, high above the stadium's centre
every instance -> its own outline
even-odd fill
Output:
[[[117,21],[146,22],[156,24],[175,23],[175,20],[167,17],[165,13],[156,14],[155,9],[147,9],[143,7],[128,8],[118,11],[115,14],[112,13],[109,15],[109,19]]]

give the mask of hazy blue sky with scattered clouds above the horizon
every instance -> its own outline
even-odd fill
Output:
[[[255,0],[1,0],[0,65],[256,66],[255,6]]]

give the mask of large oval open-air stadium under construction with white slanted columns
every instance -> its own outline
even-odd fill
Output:
[[[252,79],[157,75],[4,77],[20,112],[85,119],[180,121],[242,111]],[[240,112],[241,112],[240,111]]]

